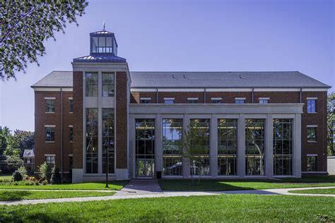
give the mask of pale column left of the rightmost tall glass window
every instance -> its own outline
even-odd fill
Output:
[[[265,126],[265,175],[273,176],[274,174],[274,127],[272,114],[267,114]]]

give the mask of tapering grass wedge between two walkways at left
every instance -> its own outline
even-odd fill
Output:
[[[0,191],[0,200],[32,200],[49,198],[83,198],[111,196],[114,192],[93,191]],[[1,220],[0,220],[1,222]]]

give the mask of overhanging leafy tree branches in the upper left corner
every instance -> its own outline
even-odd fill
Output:
[[[63,32],[66,23],[76,23],[88,6],[86,0],[1,1],[0,78],[15,78],[14,71],[25,71],[28,61],[36,63],[45,54],[43,42]]]

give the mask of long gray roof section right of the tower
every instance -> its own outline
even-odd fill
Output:
[[[131,88],[331,88],[298,71],[130,72]]]

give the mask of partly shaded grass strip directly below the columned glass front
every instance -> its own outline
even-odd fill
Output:
[[[335,176],[303,177],[302,179],[235,179],[204,180],[199,185],[195,180],[159,180],[163,191],[238,191],[271,188],[303,188],[315,186],[335,186]]]

